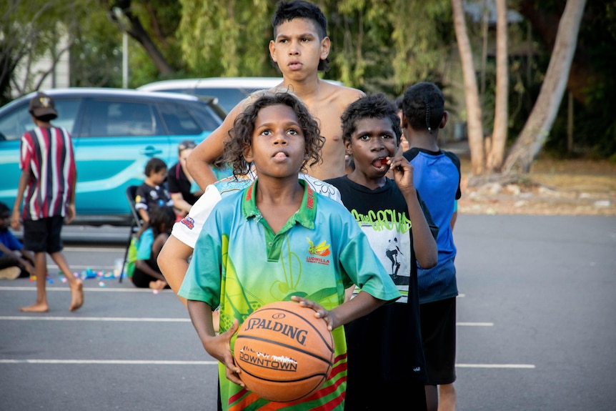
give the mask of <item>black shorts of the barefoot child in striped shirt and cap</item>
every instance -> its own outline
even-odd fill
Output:
[[[64,217],[61,216],[24,220],[24,249],[49,254],[62,251],[63,224]]]

